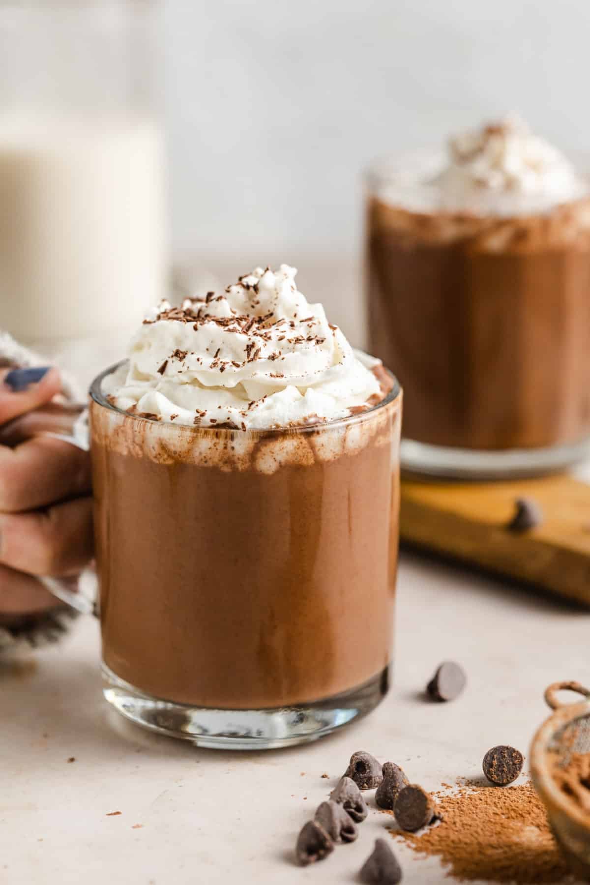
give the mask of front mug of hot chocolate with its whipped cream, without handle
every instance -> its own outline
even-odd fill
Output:
[[[203,746],[387,691],[402,395],[294,276],[164,304],[91,391],[104,694]]]

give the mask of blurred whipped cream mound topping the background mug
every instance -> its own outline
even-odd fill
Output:
[[[426,212],[546,212],[588,194],[570,160],[512,115],[453,136],[446,156],[420,154],[377,174],[385,182],[379,196]]]

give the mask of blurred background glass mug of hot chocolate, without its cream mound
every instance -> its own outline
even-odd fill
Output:
[[[563,470],[590,454],[590,185],[547,211],[483,188],[472,212],[444,202],[446,163],[415,151],[365,179],[369,350],[408,397],[402,469]]]

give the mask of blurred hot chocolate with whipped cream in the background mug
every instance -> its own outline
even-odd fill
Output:
[[[404,436],[535,450],[590,433],[590,190],[517,120],[376,168],[372,352],[406,389]]]

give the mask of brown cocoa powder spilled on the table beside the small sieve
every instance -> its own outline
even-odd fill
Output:
[[[399,830],[393,835],[421,854],[441,858],[457,880],[571,881],[530,781],[515,787],[461,787],[452,795],[443,790],[433,796],[440,824],[422,835]]]

